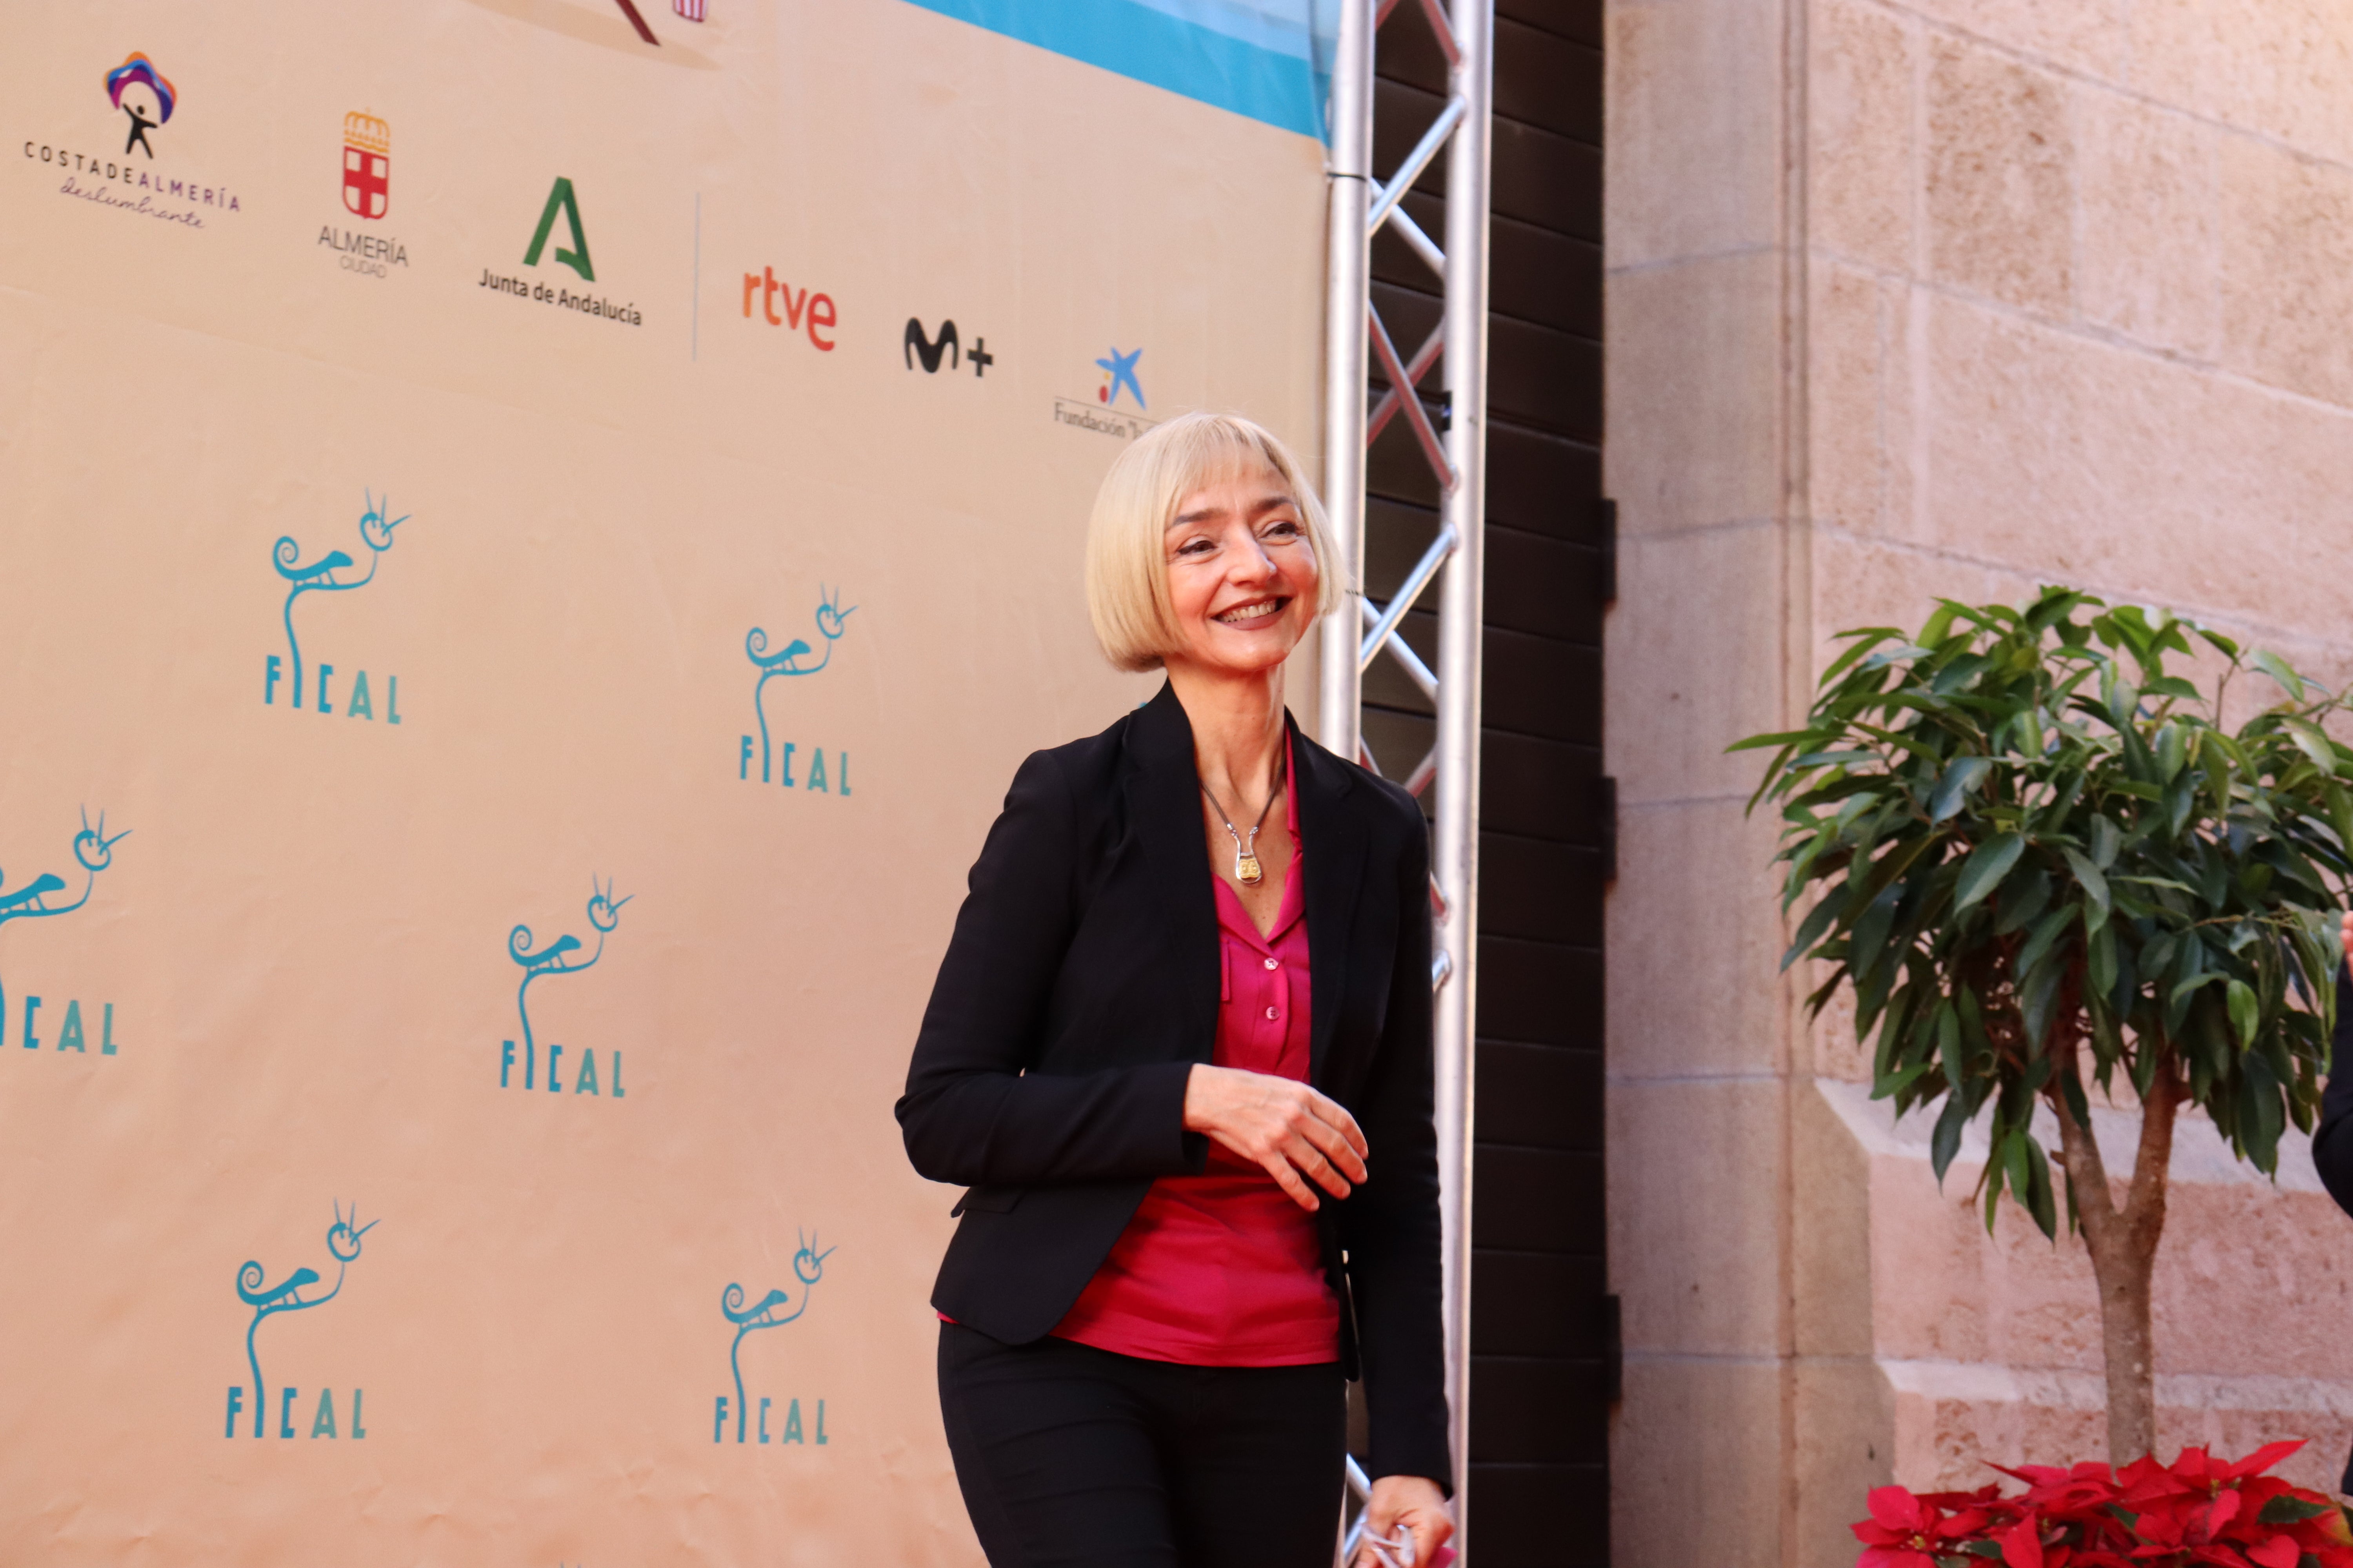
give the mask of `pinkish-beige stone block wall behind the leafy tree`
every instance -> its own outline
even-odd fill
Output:
[[[2353,0],[1612,0],[1607,61],[1617,1561],[1845,1566],[1873,1483],[2099,1458],[2099,1321],[1802,1016],[1722,748],[1840,628],[2049,581],[2353,675]],[[2184,1128],[2158,1373],[2167,1446],[2344,1465],[2304,1150]]]

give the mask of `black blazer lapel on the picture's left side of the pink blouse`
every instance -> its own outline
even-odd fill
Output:
[[[1193,722],[1167,684],[1129,717],[1122,788],[1127,837],[1144,870],[1139,891],[1158,910],[1176,959],[1188,1056],[1207,1063],[1217,1053],[1217,891],[1200,830]]]

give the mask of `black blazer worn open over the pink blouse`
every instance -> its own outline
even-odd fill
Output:
[[[1365,1378],[1372,1474],[1449,1486],[1428,830],[1405,790],[1289,733],[1311,1081],[1372,1150],[1369,1180],[1318,1211],[1341,1359]],[[1042,1338],[1153,1178],[1202,1168],[1209,1140],[1184,1131],[1184,1088],[1217,1041],[1209,877],[1174,689],[1014,773],[899,1100],[915,1168],[972,1187],[932,1291],[958,1324]]]

